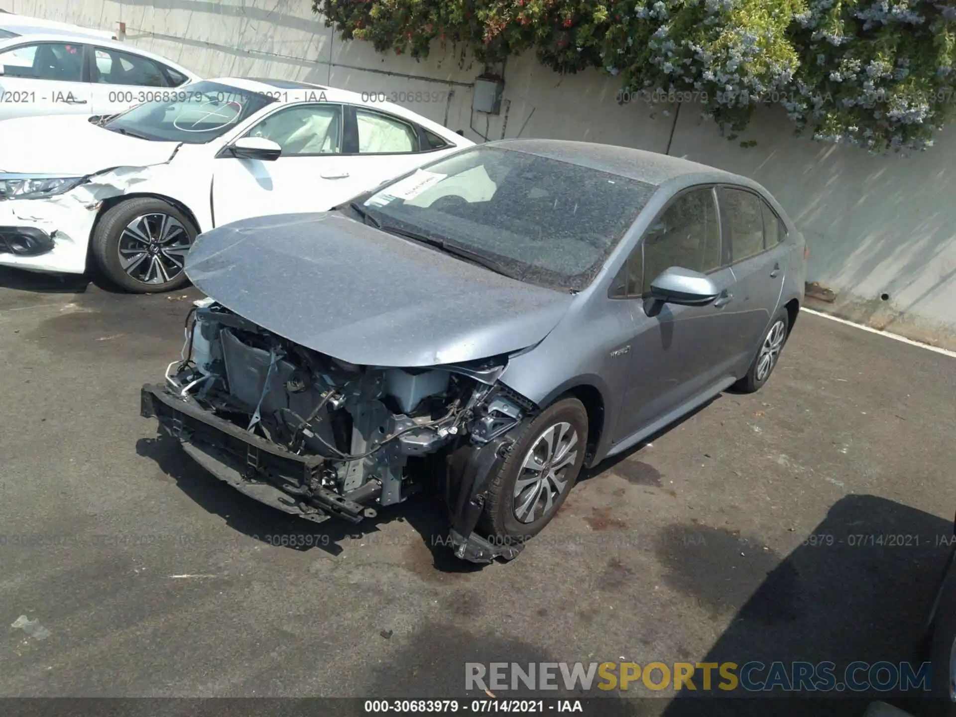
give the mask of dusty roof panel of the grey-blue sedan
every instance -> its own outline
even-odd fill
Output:
[[[598,171],[627,177],[648,185],[663,185],[670,180],[693,176],[697,181],[733,182],[750,184],[749,180],[706,164],[682,160],[679,157],[647,152],[633,147],[597,144],[589,141],[568,140],[499,140],[488,143],[547,157],[558,162],[578,164]],[[701,175],[706,175],[702,177]]]

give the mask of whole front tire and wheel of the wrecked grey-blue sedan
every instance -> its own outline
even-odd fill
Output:
[[[532,451],[539,458],[539,463],[543,458],[544,466],[548,466],[549,446],[545,442],[549,435],[558,437],[556,452],[551,453],[552,456],[556,454],[558,462],[572,452],[575,453],[574,457],[555,472],[545,473],[537,482],[516,489],[519,479],[522,482],[533,481],[534,475],[541,475],[541,471],[524,467],[526,461],[532,462]],[[554,402],[526,424],[491,481],[489,499],[485,502],[482,515],[482,527],[489,537],[499,541],[499,544],[511,544],[520,543],[541,532],[574,488],[584,464],[587,443],[588,414],[584,405],[574,398]],[[567,448],[563,450],[565,445]]]

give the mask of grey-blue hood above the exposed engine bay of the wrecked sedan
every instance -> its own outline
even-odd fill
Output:
[[[215,228],[200,235],[185,272],[206,295],[281,337],[374,366],[517,351],[546,337],[573,301],[338,212]]]

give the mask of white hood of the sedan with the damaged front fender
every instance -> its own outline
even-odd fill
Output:
[[[63,115],[0,121],[0,173],[81,176],[168,162],[179,146],[120,135],[89,120]]]

